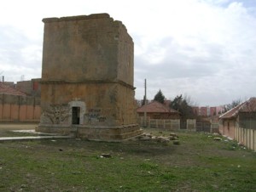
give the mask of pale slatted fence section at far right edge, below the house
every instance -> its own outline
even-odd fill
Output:
[[[235,127],[235,139],[237,142],[247,146],[248,149],[256,151],[256,130]]]

